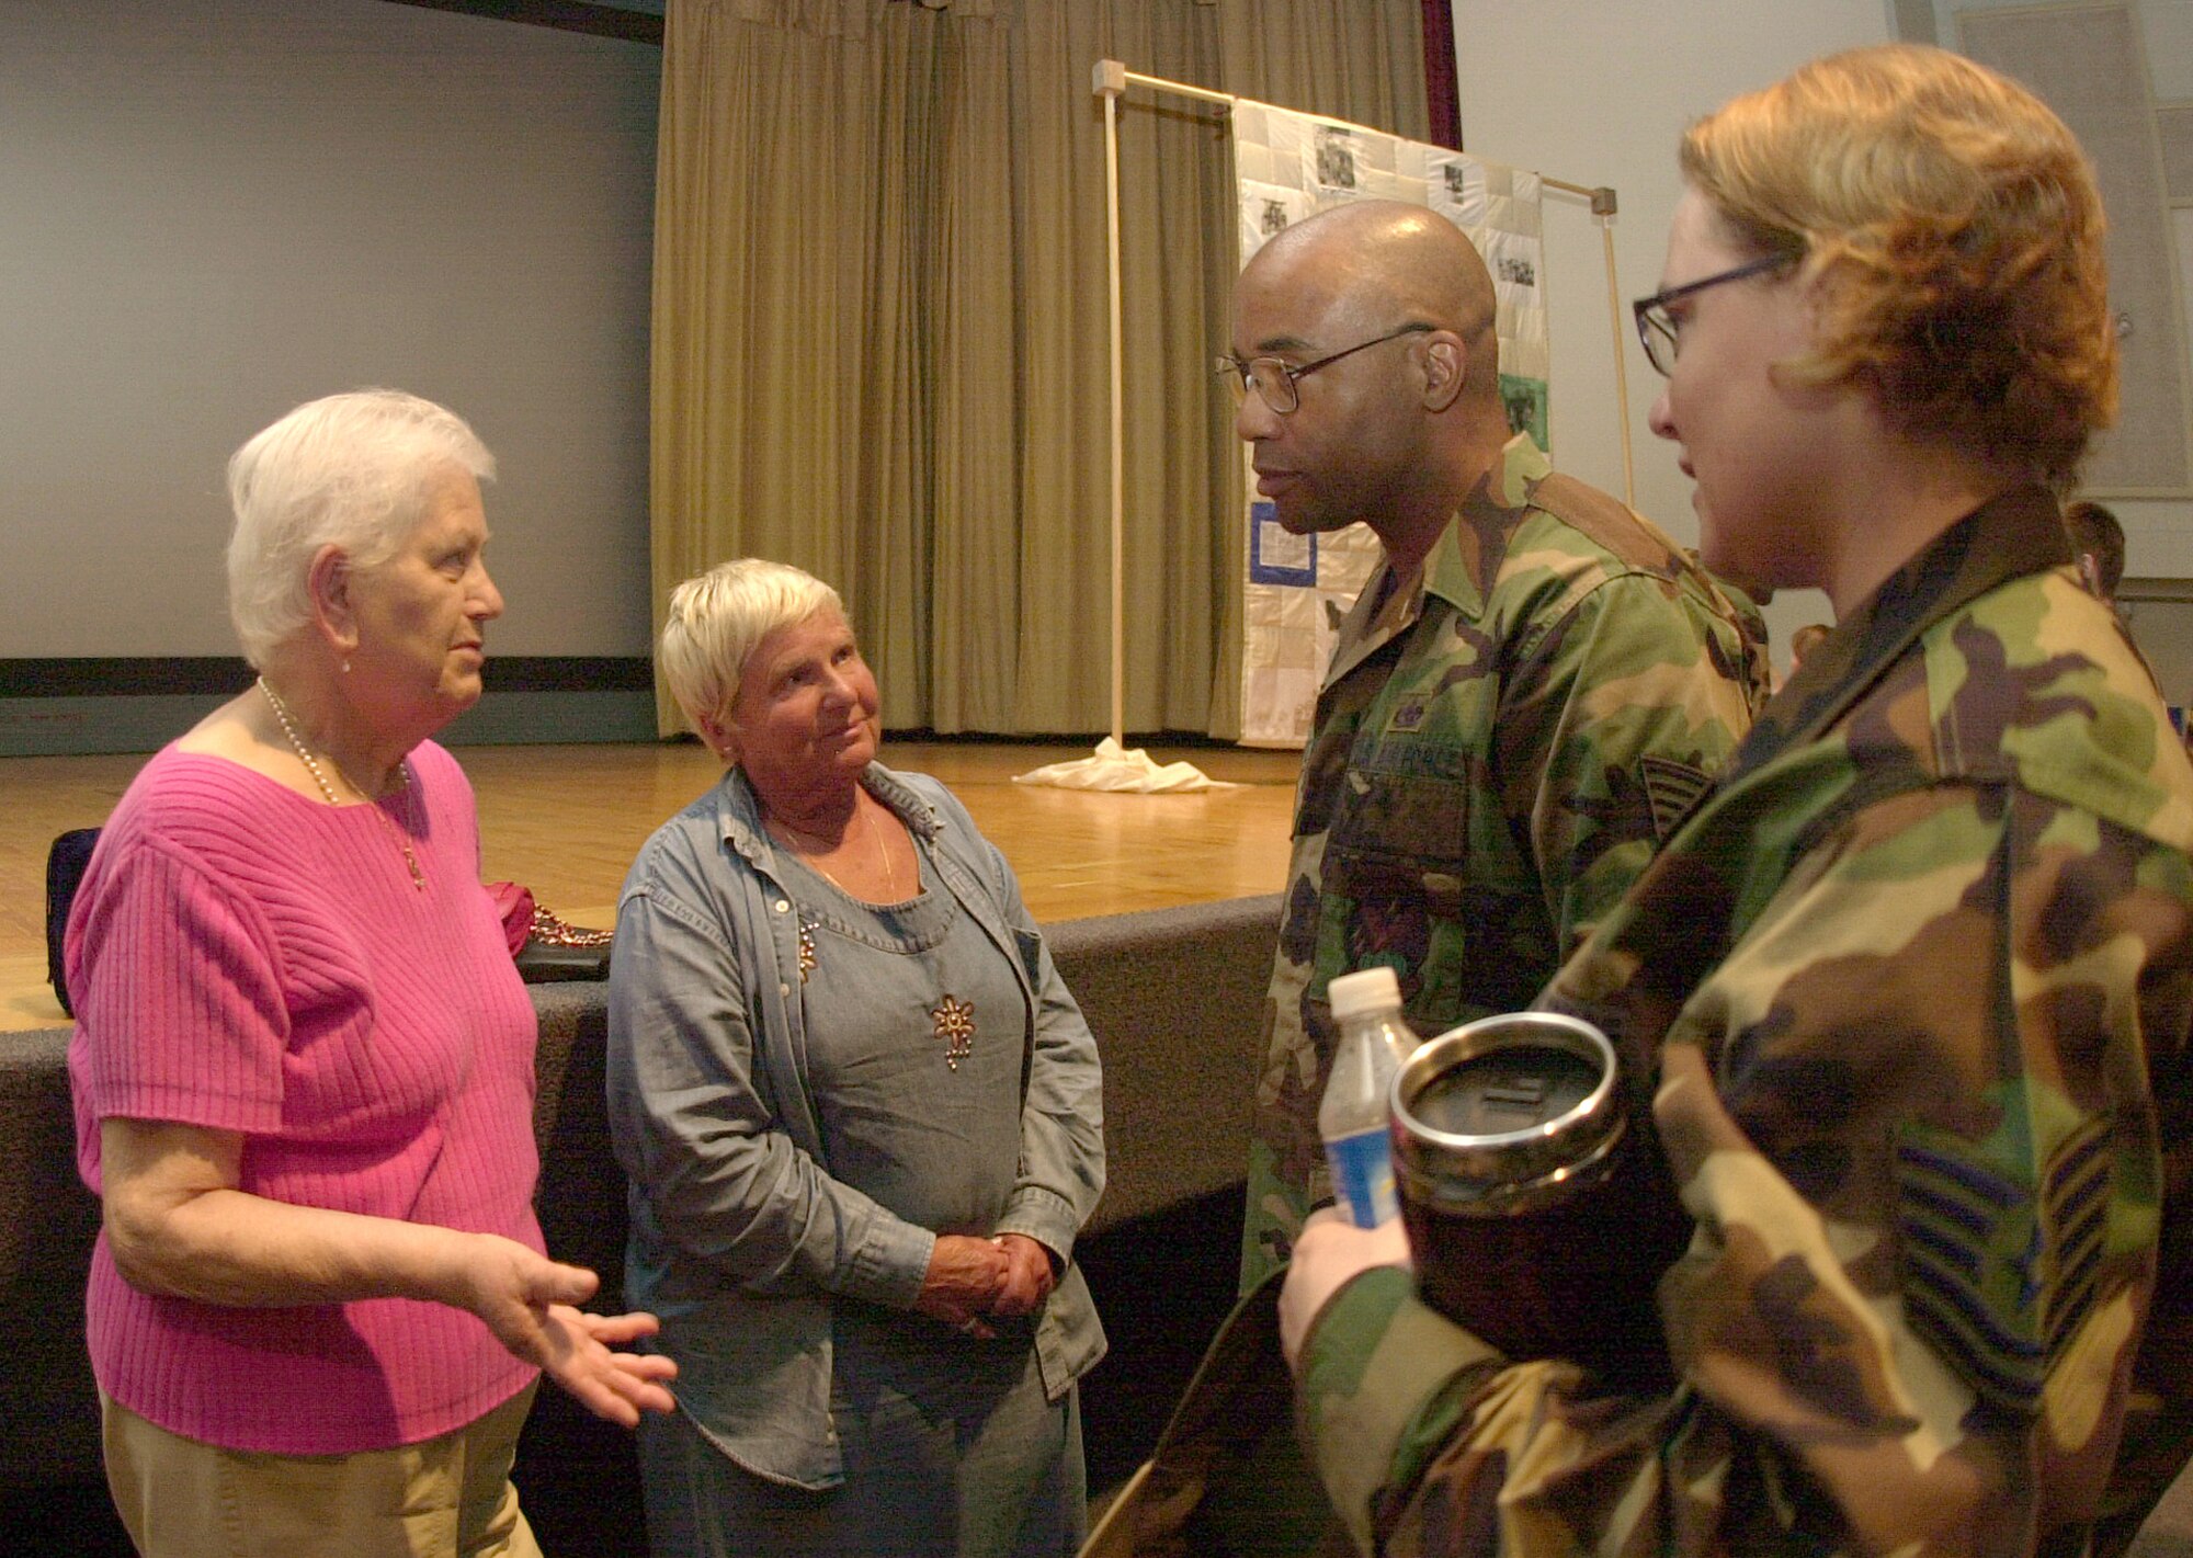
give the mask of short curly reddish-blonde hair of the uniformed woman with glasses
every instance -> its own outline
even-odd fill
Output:
[[[2116,417],[2116,331],[2094,171],[2039,99],[1941,48],[1855,48],[1697,121],[1680,156],[1741,241],[1816,283],[1816,347],[1785,373],[2072,483]]]

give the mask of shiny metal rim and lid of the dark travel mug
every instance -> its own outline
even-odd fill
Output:
[[[1393,1077],[1395,1167],[1476,1200],[1594,1167],[1623,1132],[1614,1045],[1559,1012],[1509,1012],[1425,1040]]]

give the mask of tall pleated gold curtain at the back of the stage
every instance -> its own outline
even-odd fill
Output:
[[[779,557],[844,595],[888,726],[1110,724],[1105,57],[1425,134],[1419,0],[671,0],[658,625]],[[1232,735],[1232,165],[1213,108],[1118,118],[1125,724]]]

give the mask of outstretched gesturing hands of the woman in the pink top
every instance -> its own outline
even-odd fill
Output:
[[[678,1365],[614,1343],[656,1332],[654,1314],[583,1314],[577,1306],[601,1279],[583,1266],[537,1255],[515,1240],[476,1235],[461,1273],[463,1308],[478,1314],[513,1356],[537,1365],[599,1418],[634,1426],[640,1411],[671,1411],[662,1380]]]

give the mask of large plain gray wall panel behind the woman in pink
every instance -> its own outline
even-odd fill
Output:
[[[660,64],[384,0],[0,0],[0,658],[232,654],[221,465],[362,384],[502,463],[493,652],[645,654]]]

